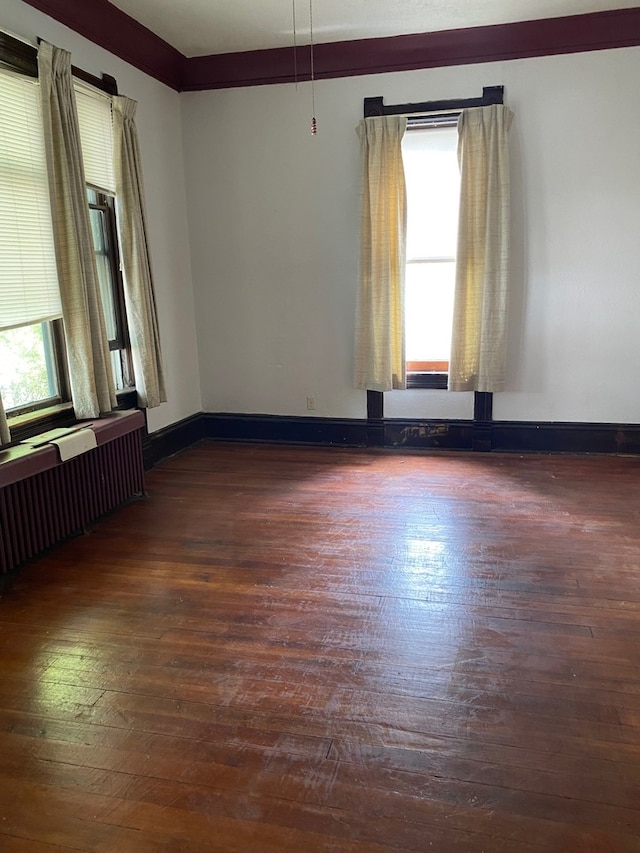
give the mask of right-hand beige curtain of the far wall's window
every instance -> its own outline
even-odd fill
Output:
[[[449,390],[504,387],[509,275],[509,147],[513,113],[464,110],[458,122],[460,219]]]

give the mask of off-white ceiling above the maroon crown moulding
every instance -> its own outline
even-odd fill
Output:
[[[310,0],[110,0],[185,56],[309,40]],[[638,0],[311,0],[315,42],[336,42],[556,18]]]

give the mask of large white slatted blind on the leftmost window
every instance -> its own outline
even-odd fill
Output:
[[[0,68],[0,329],[60,316],[38,83]]]

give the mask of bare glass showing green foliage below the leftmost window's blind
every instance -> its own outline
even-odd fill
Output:
[[[37,323],[0,332],[0,391],[6,409],[58,395],[47,326]]]

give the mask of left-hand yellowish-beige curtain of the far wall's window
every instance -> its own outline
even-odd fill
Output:
[[[360,286],[356,308],[356,388],[404,388],[404,275],[407,203],[402,164],[405,116],[363,119]]]

